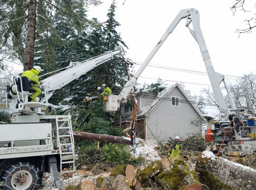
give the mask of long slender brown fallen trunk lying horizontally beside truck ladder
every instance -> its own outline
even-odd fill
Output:
[[[102,135],[102,134],[92,134],[90,132],[81,132],[81,131],[73,131],[74,138],[86,139],[86,140],[98,140],[107,143],[116,143],[116,144],[124,144],[130,145],[131,140],[124,137],[111,136],[111,135]]]

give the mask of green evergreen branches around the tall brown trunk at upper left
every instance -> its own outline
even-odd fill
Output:
[[[81,29],[90,23],[83,16],[82,10],[85,12],[83,7],[89,4],[100,4],[99,0],[3,0],[0,7],[0,22],[3,23],[0,25],[0,34],[3,36],[0,40],[1,52],[10,54],[12,58],[18,58],[21,62],[24,61],[27,16],[30,16],[27,15],[27,12],[28,7],[31,7],[28,6],[29,3],[31,5],[31,2],[35,5],[36,16],[36,25],[31,27],[31,30],[36,30],[34,31],[35,36],[32,38],[35,38],[36,49],[39,49],[39,51],[34,52],[34,49],[32,49],[36,55],[42,55],[45,58],[44,61],[46,61],[48,67],[49,64],[55,61],[55,53],[52,52],[54,51],[53,44],[63,42],[59,31],[55,27],[55,17],[67,18],[70,25],[72,24],[80,32]],[[28,14],[30,14],[30,10]],[[29,53],[29,56],[34,56],[33,52]]]

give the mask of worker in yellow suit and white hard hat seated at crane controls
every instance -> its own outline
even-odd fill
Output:
[[[34,66],[31,70],[29,71],[24,71],[21,74],[21,77],[27,77],[27,79],[29,79],[29,81],[33,81],[31,82],[31,88],[35,89],[36,92],[34,92],[32,95],[29,96],[29,98],[31,99],[31,101],[36,101],[35,98],[39,96],[39,94],[41,94],[41,89],[37,88],[38,86],[40,86],[40,84],[42,83],[41,81],[39,81],[38,79],[38,75],[39,73],[42,71],[41,67],[39,66]]]

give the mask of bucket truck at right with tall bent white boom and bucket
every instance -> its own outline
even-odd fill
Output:
[[[136,108],[137,101],[134,93],[135,83],[137,82],[140,74],[147,67],[150,60],[165,42],[169,34],[174,31],[175,27],[183,19],[186,19],[185,26],[194,37],[201,51],[214,96],[217,101],[217,106],[224,110],[226,116],[229,116],[230,119],[228,122],[214,123],[214,129],[212,132],[206,134],[206,144],[210,144],[210,149],[213,150],[214,153],[217,153],[219,150],[221,154],[230,156],[244,156],[246,154],[254,153],[254,151],[256,151],[256,139],[254,137],[256,134],[256,118],[247,118],[244,116],[243,109],[236,108],[232,95],[226,86],[224,75],[215,72],[201,31],[199,12],[195,8],[182,9],[178,13],[174,21],[167,28],[164,35],[156,43],[154,49],[149,53],[143,64],[140,66],[139,70],[134,74],[131,80],[125,84],[124,89],[122,89],[119,95],[111,95],[105,100],[105,111],[112,112],[118,110],[120,103],[125,103],[128,97],[132,97],[133,100],[135,100],[134,105]],[[193,29],[189,27],[191,23],[193,25]],[[230,108],[226,105],[226,101],[222,94],[220,88],[221,82],[224,84]],[[136,119],[136,116],[137,113],[134,113],[131,118]],[[133,134],[131,134],[131,136],[133,136]]]

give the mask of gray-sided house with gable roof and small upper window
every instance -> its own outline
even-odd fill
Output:
[[[168,140],[177,135],[186,138],[191,133],[201,131],[204,117],[179,84],[159,93],[140,93],[136,98],[139,103],[136,136]],[[121,109],[125,118],[121,127],[125,129],[129,125],[132,110],[129,103]]]

